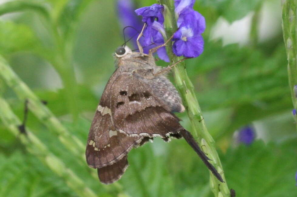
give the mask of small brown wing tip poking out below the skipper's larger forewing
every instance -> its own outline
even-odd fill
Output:
[[[124,156],[120,161],[103,168],[97,169],[100,182],[104,184],[113,183],[121,178],[128,167],[127,156]]]

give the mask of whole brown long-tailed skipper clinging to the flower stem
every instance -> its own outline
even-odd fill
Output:
[[[154,137],[166,142],[170,137],[184,137],[208,169],[223,182],[191,133],[174,115],[185,110],[181,97],[166,77],[168,69],[157,66],[153,56],[167,42],[150,49],[149,54],[143,53],[139,42],[140,52],[122,46],[114,54],[116,71],[106,84],[86,145],[86,161],[97,169],[102,183],[120,179],[128,167],[129,151]]]

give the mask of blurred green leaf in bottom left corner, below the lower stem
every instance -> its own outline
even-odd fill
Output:
[[[62,179],[26,153],[0,154],[0,174],[0,196],[75,196]]]

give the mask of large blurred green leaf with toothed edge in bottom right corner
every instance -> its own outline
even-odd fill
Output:
[[[296,196],[297,139],[282,144],[256,141],[224,154],[222,163],[237,196]]]

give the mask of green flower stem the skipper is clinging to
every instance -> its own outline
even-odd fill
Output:
[[[177,23],[175,18],[174,6],[168,3],[166,0],[160,0],[161,4],[165,4],[171,12],[170,25],[172,28],[165,27],[167,37],[169,38],[177,30]],[[167,15],[168,16],[168,15]],[[166,16],[165,16],[166,17]],[[167,45],[167,52],[170,58],[170,64],[174,64],[182,59],[182,57],[177,57],[172,52],[172,43]],[[201,113],[199,103],[197,101],[194,86],[187,76],[187,71],[185,69],[185,63],[182,62],[174,67],[174,79],[177,85],[177,89],[181,93],[181,97],[185,108],[187,109],[188,117],[192,125],[192,134],[197,142],[201,143],[203,151],[207,156],[212,159],[210,163],[221,173],[224,183],[220,182],[211,172],[210,173],[210,186],[216,197],[218,196],[230,196],[230,191],[228,189],[226,179],[224,177],[223,167],[215,148],[215,142],[212,136],[208,133],[205,122]]]

